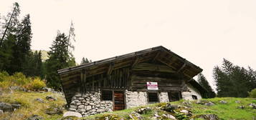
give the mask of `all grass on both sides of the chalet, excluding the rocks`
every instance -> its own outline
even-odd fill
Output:
[[[47,101],[45,99],[46,96],[54,96],[57,98],[57,101]],[[34,99],[41,98],[44,100],[44,103],[40,103],[39,101],[34,101]],[[223,120],[229,120],[229,119],[236,119],[236,120],[252,120],[252,117],[255,116],[256,118],[256,109],[252,109],[248,106],[250,103],[256,104],[256,99],[251,98],[214,98],[214,99],[203,99],[205,101],[212,101],[215,105],[214,106],[204,106],[202,104],[196,104],[196,101],[191,101],[191,109],[186,108],[187,110],[191,111],[193,116],[191,116],[189,119],[194,118],[195,116],[199,116],[201,114],[216,114],[219,116],[219,119]],[[220,104],[219,101],[224,100],[227,101],[227,104]],[[44,117],[45,120],[54,120],[54,119],[60,119],[62,118],[62,115],[54,115],[50,116],[45,114],[45,110],[48,108],[51,108],[52,106],[57,106],[63,108],[65,106],[66,101],[64,96],[60,94],[53,94],[51,92],[46,93],[39,93],[39,92],[23,92],[23,91],[14,91],[13,93],[6,93],[4,92],[1,97],[0,101],[7,102],[7,103],[14,103],[19,102],[22,104],[21,109],[17,109],[16,111],[12,113],[4,113],[0,116],[0,119],[10,119],[10,120],[16,120],[16,119],[27,119],[29,116],[32,116],[33,114],[37,114],[39,116]],[[184,100],[181,101],[175,101],[171,102],[171,104],[177,104],[183,107],[184,104],[182,104]],[[235,103],[235,101],[240,101],[240,104]],[[160,106],[164,106],[166,103],[158,103],[158,104],[148,104],[147,106],[143,107],[150,107],[152,109],[151,112],[148,112],[148,114],[143,114],[144,119],[152,119],[153,114],[155,112],[158,113],[158,115],[161,114],[172,114],[176,115],[174,113],[169,113],[166,111],[163,111],[161,109],[158,109]],[[237,109],[238,106],[245,106],[245,109]],[[86,120],[93,120],[103,119],[104,116],[113,115],[116,119],[129,119],[128,115],[131,114],[132,111],[136,111],[141,106],[131,108],[131,109],[125,109],[122,111],[113,111],[113,112],[107,112],[104,114],[96,114],[93,116],[87,116],[82,119]],[[176,111],[180,111],[181,109],[176,109]],[[199,119],[196,119],[199,120]]]

